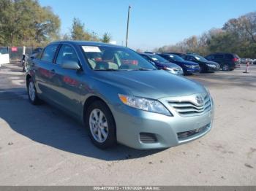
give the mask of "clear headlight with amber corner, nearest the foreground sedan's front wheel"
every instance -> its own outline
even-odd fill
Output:
[[[170,112],[157,100],[148,98],[139,98],[131,95],[118,94],[121,102],[127,106],[132,106],[137,109],[141,109],[147,112],[155,112],[159,114],[165,114],[167,116],[172,116]]]

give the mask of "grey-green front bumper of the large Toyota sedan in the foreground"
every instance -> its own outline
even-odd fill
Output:
[[[165,101],[161,102],[165,104]],[[165,104],[165,106],[167,105]],[[145,112],[129,106],[117,106],[113,112],[116,120],[117,141],[135,149],[160,149],[198,139],[212,128],[213,104],[209,111],[192,117],[182,117],[178,112],[175,112],[175,109],[167,109],[173,114],[172,117]],[[140,133],[153,134],[157,141],[145,143],[141,141]],[[191,136],[184,136],[184,134]]]

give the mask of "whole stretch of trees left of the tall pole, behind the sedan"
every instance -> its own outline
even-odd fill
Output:
[[[110,42],[89,32],[79,18],[74,18],[68,34],[60,34],[61,20],[51,7],[42,7],[37,0],[0,0],[0,46],[41,47],[59,39]]]

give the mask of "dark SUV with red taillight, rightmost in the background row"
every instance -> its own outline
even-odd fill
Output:
[[[236,69],[240,65],[240,58],[233,53],[214,53],[205,57],[208,61],[219,63],[222,71],[230,71]]]

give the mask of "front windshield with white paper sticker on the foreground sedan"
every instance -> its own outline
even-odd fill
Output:
[[[125,47],[81,46],[91,69],[97,71],[156,70],[138,53]]]

